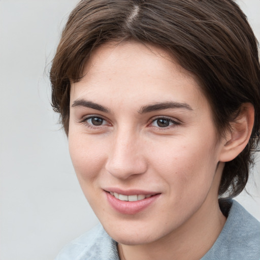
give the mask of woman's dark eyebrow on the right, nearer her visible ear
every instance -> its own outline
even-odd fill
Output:
[[[164,110],[164,109],[186,109],[186,110],[193,110],[188,104],[186,103],[179,103],[179,102],[162,102],[162,103],[155,103],[151,105],[147,105],[141,107],[138,113],[148,113],[157,110]]]

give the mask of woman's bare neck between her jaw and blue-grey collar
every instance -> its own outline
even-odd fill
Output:
[[[216,192],[209,192],[200,209],[177,230],[149,244],[120,244],[119,257],[121,260],[201,259],[218,238],[225,220]]]

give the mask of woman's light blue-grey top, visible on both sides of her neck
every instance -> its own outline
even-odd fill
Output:
[[[260,222],[233,200],[221,210],[228,218],[216,242],[201,260],[260,260]],[[55,260],[120,259],[116,241],[99,224],[65,246]]]

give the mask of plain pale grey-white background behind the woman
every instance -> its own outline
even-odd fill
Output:
[[[49,63],[77,0],[0,0],[0,260],[53,259],[98,222],[50,106]],[[260,39],[260,0],[239,1]],[[237,199],[260,220],[260,163]]]

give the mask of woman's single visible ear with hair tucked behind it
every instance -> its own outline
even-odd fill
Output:
[[[254,124],[254,107],[251,103],[244,103],[235,122],[231,123],[231,130],[223,140],[219,161],[231,161],[246,147]]]

